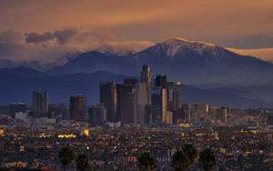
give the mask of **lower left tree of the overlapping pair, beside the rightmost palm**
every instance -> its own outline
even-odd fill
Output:
[[[172,167],[176,171],[184,171],[189,166],[189,159],[187,153],[183,149],[178,149],[172,156]]]

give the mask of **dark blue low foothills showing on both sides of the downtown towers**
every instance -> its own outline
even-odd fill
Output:
[[[20,67],[0,70],[0,105],[14,102],[32,104],[33,91],[48,91],[50,103],[67,103],[69,96],[86,94],[88,104],[99,100],[99,82],[115,80],[123,83],[124,78],[135,77],[116,75],[105,71],[78,73],[70,75],[45,75],[41,72]],[[183,82],[182,82],[183,83]],[[247,87],[244,87],[247,89]],[[272,86],[273,89],[273,86]],[[273,100],[256,98],[249,88],[199,89],[191,85],[181,85],[182,102],[207,102],[213,106],[233,106],[240,108],[273,106]]]

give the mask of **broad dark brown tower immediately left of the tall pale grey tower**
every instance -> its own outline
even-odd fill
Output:
[[[116,85],[117,116],[123,124],[134,123],[135,85]]]

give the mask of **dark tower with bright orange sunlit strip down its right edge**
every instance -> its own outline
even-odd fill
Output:
[[[167,124],[167,90],[154,87],[152,90],[152,121],[153,124]]]

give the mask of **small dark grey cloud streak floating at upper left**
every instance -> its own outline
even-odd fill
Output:
[[[60,45],[66,44],[71,37],[76,35],[76,30],[57,30],[53,33],[45,32],[43,34],[38,33],[25,33],[26,43],[41,43],[56,39]]]

